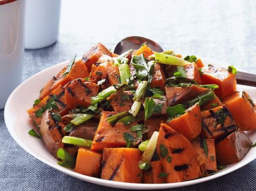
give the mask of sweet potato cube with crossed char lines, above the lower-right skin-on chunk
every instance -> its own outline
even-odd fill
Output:
[[[237,125],[226,105],[203,111],[201,116],[204,138],[219,139],[237,130]]]

